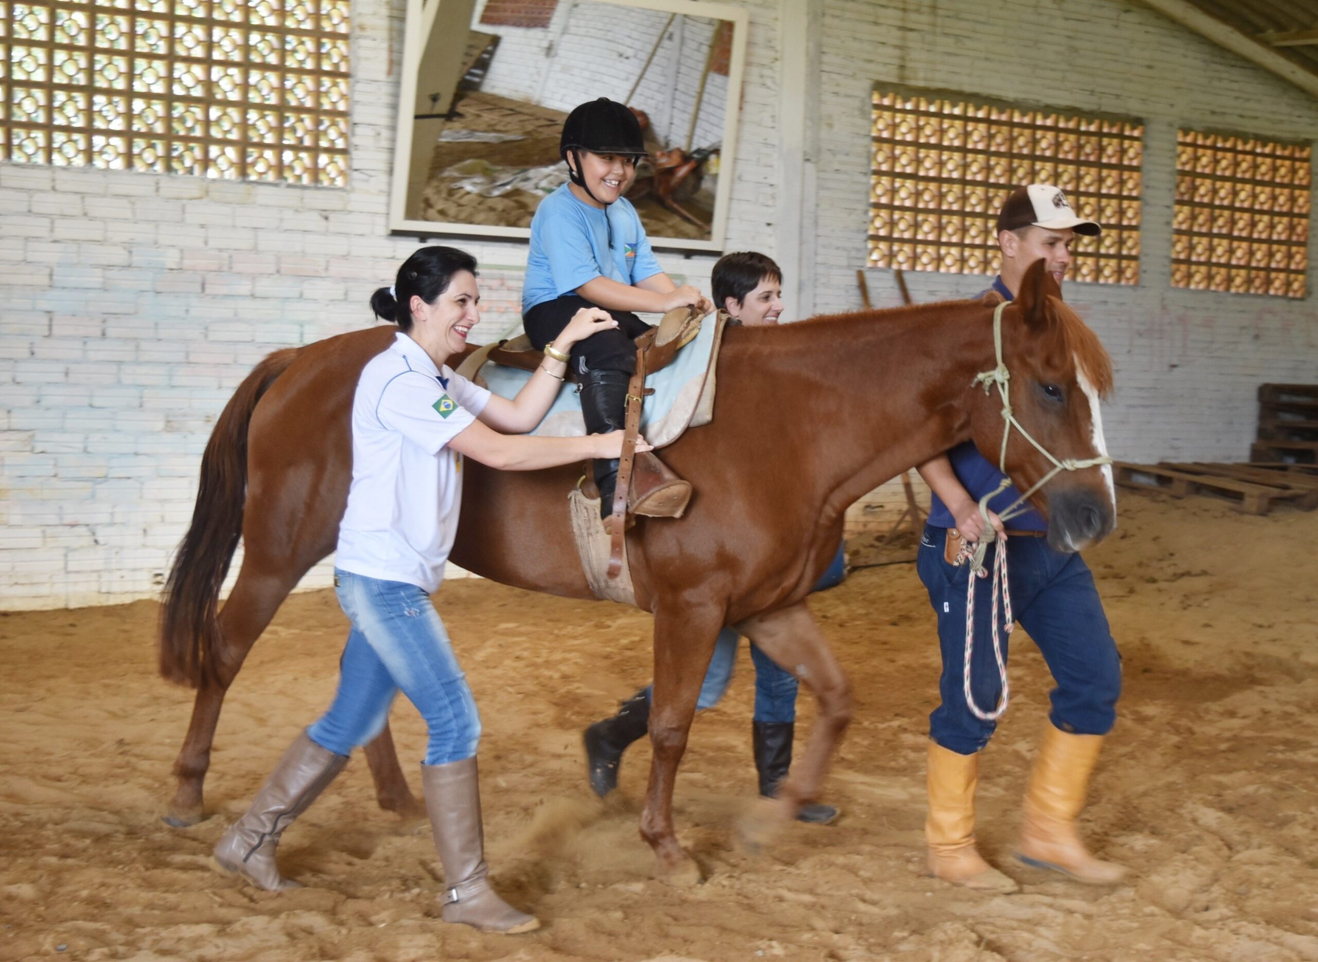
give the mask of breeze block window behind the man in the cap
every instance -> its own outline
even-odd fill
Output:
[[[1070,275],[1137,283],[1144,125],[875,86],[869,266],[996,274],[1007,195],[1053,183],[1103,225],[1075,237]]]

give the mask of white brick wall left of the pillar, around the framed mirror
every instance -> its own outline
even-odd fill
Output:
[[[747,7],[745,127],[767,130],[778,7]],[[373,323],[370,291],[418,245],[386,231],[403,16],[399,0],[353,7],[347,190],[0,163],[0,608],[154,596],[252,365]],[[764,248],[774,153],[747,140],[729,242]],[[523,244],[428,242],[482,265],[474,340],[519,325]],[[708,289],[712,257],[660,262]],[[322,564],[302,586],[328,582]]]

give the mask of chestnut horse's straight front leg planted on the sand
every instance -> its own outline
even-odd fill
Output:
[[[655,851],[659,876],[677,886],[700,882],[700,866],[673,833],[672,791],[724,614],[720,606],[692,605],[685,600],[660,605],[655,611],[655,680],[650,708],[654,758],[646,806],[641,813],[641,837]]]

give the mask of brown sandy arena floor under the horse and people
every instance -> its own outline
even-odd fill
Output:
[[[1159,498],[1123,495],[1120,530],[1090,555],[1126,664],[1082,818],[1132,870],[1114,890],[1010,861],[1049,687],[1021,635],[979,834],[1024,891],[921,876],[937,647],[913,565],[859,571],[813,602],[857,692],[826,793],[845,814],[762,855],[735,830],[754,792],[742,652],[677,784],[680,837],[708,875],[695,890],[650,878],[637,835],[648,746],[609,805],[583,775],[581,726],[648,676],[648,618],[471,580],[439,608],[485,723],[494,876],[540,932],[439,921],[428,828],[376,808],[360,758],[285,837],[283,868],[307,888],[272,895],[208,867],[331,697],[344,621],[318,592],[290,600],[248,660],[212,756],[214,817],[186,830],[158,818],[191,697],[156,676],[156,605],[0,615],[0,959],[1318,959],[1318,513]],[[394,731],[415,787],[411,706]]]

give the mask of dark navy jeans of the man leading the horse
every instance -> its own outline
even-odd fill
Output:
[[[966,654],[966,579],[969,565],[950,565],[942,559],[946,528],[927,526],[920,539],[916,569],[938,615],[942,648],[942,704],[929,716],[929,737],[944,749],[970,755],[988,743],[996,725],[977,718],[966,705],[963,665]],[[992,654],[992,569],[1000,544],[988,547],[985,565],[988,577],[975,584],[975,644],[970,664],[970,693],[983,712],[998,705],[1002,683]],[[1039,646],[1057,687],[1049,694],[1048,718],[1061,731],[1106,735],[1116,722],[1122,693],[1122,656],[1103,614],[1094,576],[1079,555],[1048,547],[1044,538],[1016,536],[1007,540],[1007,577],[1011,610]],[[999,617],[1002,613],[999,611]],[[1003,659],[1007,635],[999,625]]]

